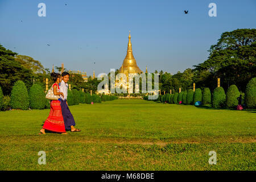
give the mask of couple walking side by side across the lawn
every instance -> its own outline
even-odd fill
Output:
[[[56,133],[67,134],[66,130],[71,132],[79,132],[81,130],[76,129],[76,125],[73,115],[71,114],[68,103],[68,80],[69,73],[63,72],[51,73],[54,84],[52,85],[53,94],[60,96],[59,100],[51,100],[51,111],[48,118],[44,122],[40,134],[46,134],[45,130],[53,131]]]

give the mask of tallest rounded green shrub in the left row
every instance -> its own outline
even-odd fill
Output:
[[[16,81],[11,90],[11,109],[27,110],[30,105],[27,88],[23,81]]]

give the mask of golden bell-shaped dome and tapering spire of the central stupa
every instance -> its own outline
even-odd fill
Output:
[[[129,73],[143,73],[141,69],[139,69],[136,60],[133,56],[133,49],[131,48],[131,34],[129,31],[129,42],[127,47],[126,57],[123,60],[122,66],[119,68],[118,73],[125,73],[128,75]]]

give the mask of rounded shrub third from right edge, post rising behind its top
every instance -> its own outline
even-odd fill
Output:
[[[217,107],[224,107],[226,102],[226,94],[222,87],[217,87],[213,90],[212,94],[212,106]]]

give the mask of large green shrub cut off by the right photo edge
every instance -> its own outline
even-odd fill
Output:
[[[248,108],[256,107],[256,77],[252,78],[246,85],[245,104]]]

